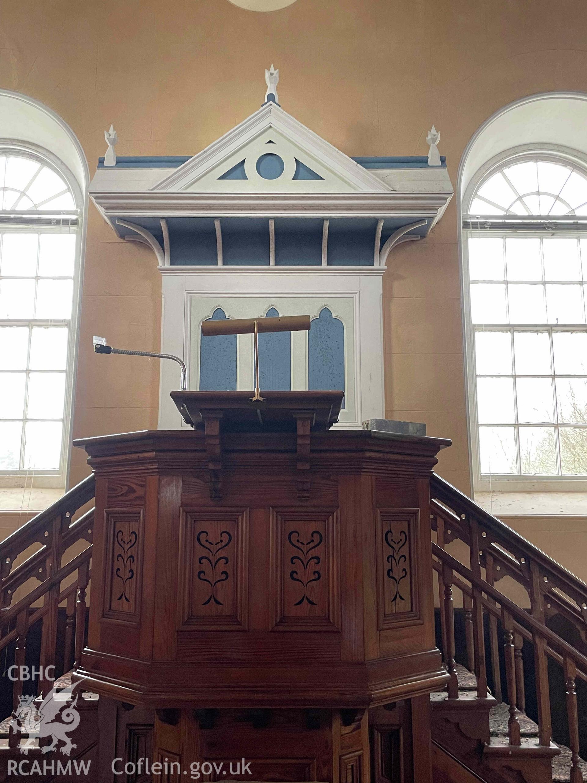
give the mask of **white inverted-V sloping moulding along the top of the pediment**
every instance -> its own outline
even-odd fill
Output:
[[[335,146],[322,139],[318,134],[306,128],[280,106],[275,103],[267,103],[221,136],[220,139],[191,157],[189,161],[185,161],[175,171],[153,185],[151,190],[161,193],[181,191],[193,186],[208,171],[232,156],[236,150],[247,146],[268,128],[275,128],[276,131],[283,133],[286,138],[301,146],[337,176],[348,182],[353,189],[374,193],[385,193],[391,189],[386,182],[353,161],[348,155],[337,150]],[[238,186],[238,183],[236,185]]]

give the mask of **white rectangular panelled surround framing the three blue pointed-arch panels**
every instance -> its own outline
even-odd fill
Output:
[[[366,271],[340,268],[194,269],[160,267],[163,275],[161,351],[179,355],[188,366],[189,388],[199,380],[200,323],[216,307],[233,318],[262,315],[275,307],[281,315],[318,316],[328,307],[344,323],[347,402],[343,428],[384,417],[382,334],[383,267]],[[308,388],[308,336],[292,335],[292,388]],[[252,388],[252,341],[239,335],[237,387]],[[177,368],[161,363],[159,428],[180,429],[182,417],[169,393],[178,388]]]

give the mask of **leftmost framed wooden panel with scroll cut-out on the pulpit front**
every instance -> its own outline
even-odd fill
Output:
[[[105,586],[103,617],[139,622],[142,579],[142,509],[104,512]]]

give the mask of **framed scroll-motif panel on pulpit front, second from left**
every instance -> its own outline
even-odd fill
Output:
[[[247,627],[248,509],[184,509],[178,626],[184,630]]]

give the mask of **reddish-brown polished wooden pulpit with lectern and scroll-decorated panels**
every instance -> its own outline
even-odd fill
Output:
[[[341,392],[264,395],[177,392],[193,431],[76,442],[96,478],[77,674],[157,709],[156,760],[182,769],[429,781],[447,680],[429,479],[449,442],[330,429]]]

